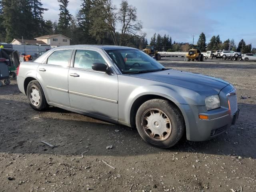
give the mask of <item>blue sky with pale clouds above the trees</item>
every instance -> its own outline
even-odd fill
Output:
[[[119,6],[121,0],[112,0]],[[58,20],[57,0],[41,0],[45,8],[44,17]],[[236,45],[243,38],[246,44],[256,47],[256,0],[128,0],[136,6],[138,19],[143,23],[147,38],[156,33],[169,34],[173,41],[192,43],[201,32],[206,42],[213,35],[222,41],[234,38]],[[70,0],[70,13],[76,15],[81,0]]]

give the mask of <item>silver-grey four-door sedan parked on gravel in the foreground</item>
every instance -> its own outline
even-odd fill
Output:
[[[77,45],[49,50],[17,72],[30,106],[49,105],[136,127],[153,146],[169,148],[183,134],[204,141],[238,118],[236,89],[214,77],[164,68],[130,47]]]

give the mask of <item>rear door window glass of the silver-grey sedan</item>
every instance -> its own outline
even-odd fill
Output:
[[[47,64],[67,67],[71,60],[73,50],[54,51],[47,59]]]

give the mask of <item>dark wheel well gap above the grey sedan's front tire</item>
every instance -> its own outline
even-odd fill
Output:
[[[130,124],[132,127],[136,127],[136,122],[135,122],[135,117],[136,117],[136,113],[139,109],[139,107],[146,101],[151,100],[151,99],[164,99],[164,100],[168,100],[165,97],[162,96],[158,96],[158,95],[143,95],[140,96],[139,98],[137,98],[134,103],[132,104],[132,108],[130,111]],[[168,100],[169,102],[172,102],[171,100]],[[177,106],[174,102],[172,102],[172,104],[174,104],[175,106]],[[178,106],[177,106],[178,108]],[[179,109],[179,108],[178,108]],[[179,109],[180,110],[180,109]],[[180,111],[180,114],[182,114],[182,112]],[[184,121],[184,117],[182,115],[182,119]],[[185,124],[185,121],[184,121]],[[186,130],[186,129],[185,129]]]

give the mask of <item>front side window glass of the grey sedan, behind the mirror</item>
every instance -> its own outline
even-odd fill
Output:
[[[92,70],[93,63],[106,64],[102,56],[96,51],[76,50],[76,56],[74,60],[75,68]]]

